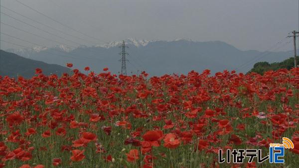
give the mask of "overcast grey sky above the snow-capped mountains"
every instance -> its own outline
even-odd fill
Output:
[[[59,29],[75,38],[26,19],[3,7],[1,12],[32,24],[55,37],[1,13],[1,22],[22,30],[78,46],[104,44],[127,38],[146,40],[220,40],[241,50],[265,51],[299,30],[299,0],[19,0],[67,25],[62,26],[16,0],[0,0],[2,6]],[[1,32],[43,46],[57,43],[1,24]],[[33,47],[33,44],[1,34],[1,40]],[[94,37],[94,38],[92,38]],[[84,39],[84,40],[82,40]],[[76,43],[70,42],[74,41]],[[20,48],[1,42],[1,49]],[[291,50],[289,43],[280,50]]]

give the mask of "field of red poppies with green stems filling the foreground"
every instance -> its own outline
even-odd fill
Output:
[[[89,68],[85,69],[89,72]],[[200,168],[299,164],[299,68],[258,74],[0,77],[0,167]],[[284,164],[218,163],[218,150],[290,138]]]

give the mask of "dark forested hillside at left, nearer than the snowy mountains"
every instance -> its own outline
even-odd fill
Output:
[[[35,69],[42,69],[43,74],[56,74],[61,76],[69,71],[68,68],[60,65],[46,64],[41,61],[30,60],[16,54],[0,50],[0,76],[14,77],[22,76],[31,78],[35,74]]]

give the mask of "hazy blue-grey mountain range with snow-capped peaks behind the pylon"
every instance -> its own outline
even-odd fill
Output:
[[[287,52],[260,52],[256,50],[242,51],[234,46],[221,41],[196,42],[186,39],[173,41],[163,40],[125,40],[129,48],[127,59],[128,75],[137,71],[146,71],[150,75],[186,74],[191,70],[202,72],[209,69],[212,73],[237,69],[237,72],[248,72],[256,62],[280,62],[292,56],[292,51]],[[43,61],[48,64],[65,66],[73,63],[74,67],[84,72],[85,67],[100,73],[108,67],[112,73],[121,71],[122,41],[110,42],[92,47],[79,46],[69,48],[64,45],[53,48],[35,47],[31,49],[8,49],[25,58]],[[256,58],[256,61],[252,61]],[[252,61],[251,63],[249,61]],[[248,65],[239,68],[241,65]]]

